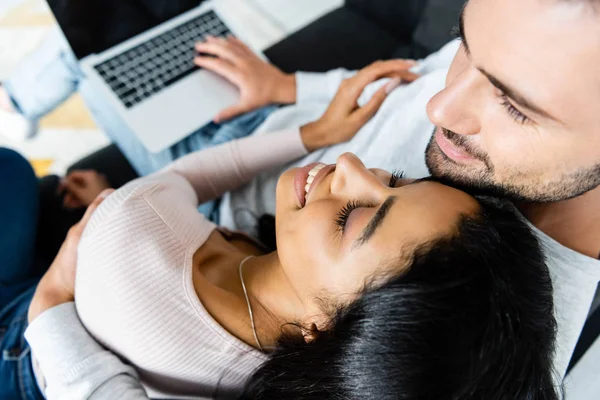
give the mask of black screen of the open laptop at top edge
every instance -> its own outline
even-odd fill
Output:
[[[48,0],[82,59],[101,53],[196,6],[202,0]]]

